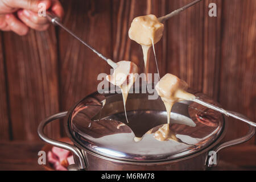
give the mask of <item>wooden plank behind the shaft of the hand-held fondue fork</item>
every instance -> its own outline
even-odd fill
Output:
[[[102,55],[112,57],[110,1],[63,1],[64,24]],[[61,110],[97,90],[97,76],[110,66],[64,30],[59,31]]]

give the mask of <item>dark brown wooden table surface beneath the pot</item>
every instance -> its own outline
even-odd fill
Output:
[[[43,142],[0,142],[0,170],[41,171],[38,152]],[[256,146],[234,146],[220,154],[220,162],[212,170],[256,170]]]

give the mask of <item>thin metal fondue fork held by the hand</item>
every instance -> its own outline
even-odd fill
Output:
[[[88,43],[84,42],[84,40],[82,40],[81,38],[79,38],[79,36],[77,36],[74,32],[72,32],[71,30],[69,30],[67,27],[64,26],[64,24],[62,24],[60,22],[60,18],[57,17],[56,15],[54,15],[53,13],[49,13],[47,12],[46,14],[46,18],[53,24],[53,25],[58,25],[61,28],[63,28],[65,31],[67,31],[69,34],[71,34],[74,38],[76,38],[77,40],[79,40],[82,44],[84,44],[86,47],[88,47],[89,49],[91,49],[94,53],[96,53],[99,57],[101,57],[101,59],[104,59],[112,68],[117,68],[117,64],[114,63],[114,61],[112,61],[111,59],[106,58],[105,56],[103,56],[100,52],[98,52],[95,48],[93,48],[92,46],[90,46]]]

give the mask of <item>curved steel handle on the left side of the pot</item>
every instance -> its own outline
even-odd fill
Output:
[[[80,166],[79,166],[78,169],[85,169],[86,168],[85,160],[82,156],[81,151],[77,147],[73,146],[72,144],[68,144],[68,143],[57,141],[57,140],[53,140],[51,138],[48,138],[44,134],[44,127],[46,127],[46,125],[48,123],[50,123],[50,122],[52,122],[56,119],[64,118],[67,114],[68,114],[68,111],[65,111],[63,113],[58,113],[58,114],[52,115],[52,116],[44,119],[38,126],[38,135],[39,135],[40,139],[42,139],[46,143],[49,143],[49,144],[51,144],[55,147],[63,148],[65,150],[73,152],[73,154],[75,154],[79,158],[79,161],[80,161]]]

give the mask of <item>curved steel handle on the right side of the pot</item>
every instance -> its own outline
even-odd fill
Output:
[[[233,112],[233,113],[235,113],[235,112]],[[235,114],[236,115],[241,115],[241,117],[246,118],[242,114],[239,114],[239,113],[235,113]],[[255,127],[249,125],[249,130],[248,130],[248,132],[245,136],[243,136],[241,138],[238,138],[238,139],[231,140],[229,142],[224,142],[224,143],[219,144],[216,147],[214,147],[214,149],[212,151],[209,151],[209,153],[208,153],[209,158],[207,158],[207,161],[206,161],[207,166],[212,167],[212,166],[217,165],[217,153],[220,150],[222,150],[223,148],[229,147],[229,146],[233,146],[233,145],[236,145],[236,144],[247,142],[249,139],[251,139],[254,136],[254,134],[255,134]]]

